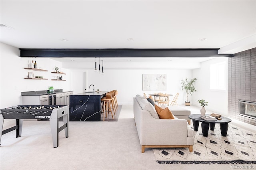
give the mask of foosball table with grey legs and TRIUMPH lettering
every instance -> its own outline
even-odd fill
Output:
[[[59,119],[63,118],[62,127],[59,127]],[[3,130],[4,119],[16,119],[16,126]],[[21,136],[23,119],[49,119],[53,147],[58,147],[59,132],[65,130],[68,138],[68,106],[47,105],[47,106],[15,106],[1,109],[0,112],[0,145],[3,134],[16,130],[16,138]]]

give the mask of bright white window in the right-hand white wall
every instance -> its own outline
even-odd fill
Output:
[[[210,89],[226,90],[226,62],[210,65]]]

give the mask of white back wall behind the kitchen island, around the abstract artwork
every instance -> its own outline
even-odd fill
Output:
[[[81,81],[84,71],[72,71],[72,80],[75,93],[82,93],[79,89],[81,88],[78,84],[83,84]],[[180,82],[186,77],[191,77],[191,70],[186,69],[170,69],[170,70],[160,70],[160,69],[104,69],[104,74],[95,73],[94,70],[87,70],[87,91],[92,91],[89,89],[89,85],[93,84],[95,90],[100,89],[100,91],[118,91],[118,104],[121,105],[132,105],[133,97],[137,94],[147,95],[154,92],[160,91],[142,91],[142,74],[167,74],[167,91],[161,91],[162,93],[170,93],[175,95],[180,93],[178,98],[178,103],[184,103],[183,91],[181,91]],[[170,99],[173,99],[171,96]]]

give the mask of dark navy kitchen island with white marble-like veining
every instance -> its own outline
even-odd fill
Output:
[[[100,121],[100,99],[109,91],[70,95],[69,121]]]

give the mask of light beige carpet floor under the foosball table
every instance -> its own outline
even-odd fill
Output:
[[[53,148],[49,122],[25,121],[20,138],[15,131],[2,136],[0,169],[220,170],[234,166],[159,164],[152,148],[141,153],[132,107],[123,105],[117,122],[70,122],[69,137],[59,133],[58,148]]]

